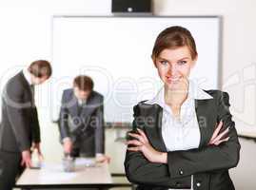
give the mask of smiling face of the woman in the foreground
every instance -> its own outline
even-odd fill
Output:
[[[190,69],[195,65],[187,46],[174,49],[166,48],[155,59],[154,64],[165,85],[179,84],[188,79]]]

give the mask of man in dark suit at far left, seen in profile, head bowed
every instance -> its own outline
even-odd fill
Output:
[[[12,77],[2,95],[0,189],[11,190],[16,176],[31,166],[31,149],[40,150],[40,128],[33,86],[49,79],[48,61],[38,60]]]

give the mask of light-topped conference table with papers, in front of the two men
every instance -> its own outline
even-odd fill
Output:
[[[74,171],[65,172],[62,163],[47,162],[41,168],[27,168],[16,181],[21,189],[82,189],[131,187],[130,183],[115,183],[108,163],[95,163],[89,159],[75,160]]]

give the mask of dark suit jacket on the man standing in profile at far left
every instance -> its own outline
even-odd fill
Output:
[[[0,150],[30,150],[31,142],[40,142],[40,128],[32,91],[21,71],[8,81],[2,94]]]

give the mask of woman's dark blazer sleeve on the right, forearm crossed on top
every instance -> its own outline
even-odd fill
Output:
[[[167,153],[168,171],[172,178],[190,176],[195,173],[235,167],[239,161],[240,143],[235,123],[229,112],[229,98],[226,92],[218,95],[218,121],[229,126],[229,140],[220,145],[208,145],[198,149]]]

